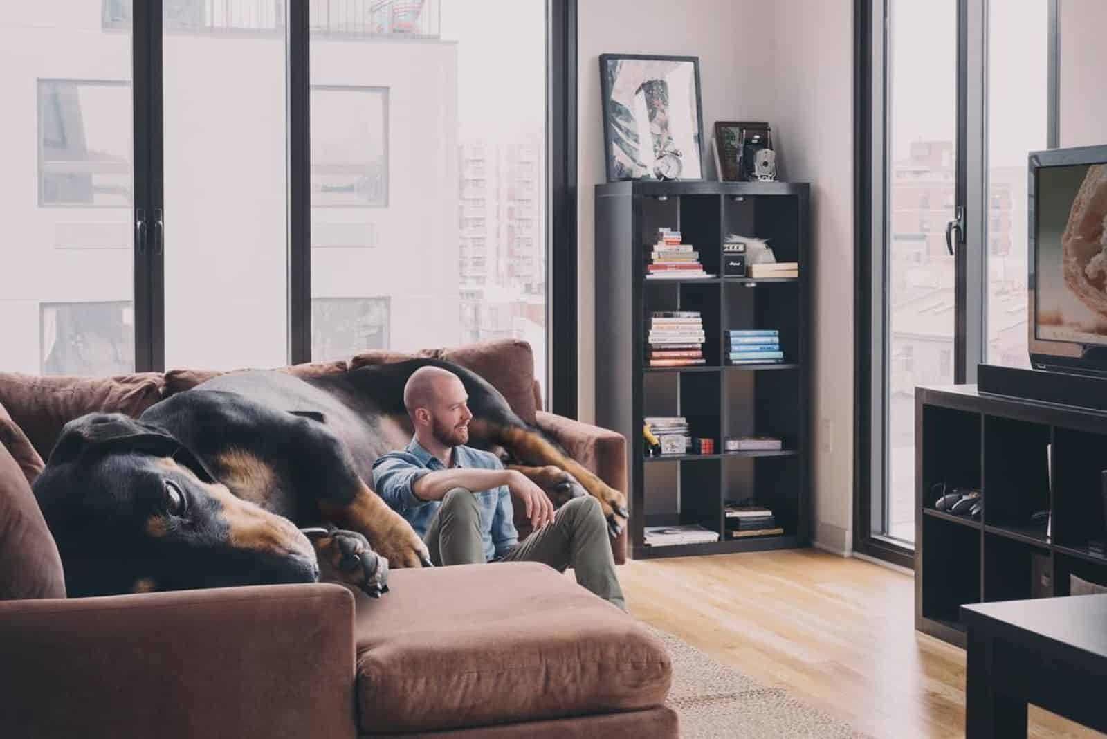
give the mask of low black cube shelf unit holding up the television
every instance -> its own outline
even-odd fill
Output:
[[[1107,412],[917,388],[915,628],[963,647],[962,605],[1068,595],[1072,574],[1107,584],[1107,558],[1087,547],[1107,537],[1103,470]],[[982,517],[935,510],[940,482],[980,489]],[[1048,537],[1038,510],[1053,513]]]

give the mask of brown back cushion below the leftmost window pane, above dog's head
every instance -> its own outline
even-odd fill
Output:
[[[62,426],[86,413],[122,413],[137,417],[162,399],[161,373],[115,377],[35,377],[0,373],[0,404],[49,461]]]

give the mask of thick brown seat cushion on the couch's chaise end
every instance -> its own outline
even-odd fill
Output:
[[[356,596],[363,732],[635,710],[669,691],[661,642],[545,564],[397,570],[389,589]]]

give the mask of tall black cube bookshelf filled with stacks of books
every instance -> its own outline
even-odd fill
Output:
[[[810,187],[804,183],[624,181],[596,187],[596,417],[628,439],[630,545],[635,559],[806,547],[809,520]],[[648,280],[656,230],[681,231],[710,279]],[[767,239],[798,278],[722,273],[727,233]],[[700,311],[705,366],[645,366],[653,311]],[[777,329],[784,364],[726,364],[726,331]],[[645,416],[685,416],[712,455],[649,457]],[[727,436],[780,437],[782,451],[726,452]],[[783,535],[727,538],[723,504],[753,498]],[[646,525],[699,523],[711,544],[646,547]]]

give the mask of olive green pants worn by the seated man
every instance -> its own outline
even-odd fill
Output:
[[[424,538],[437,566],[485,562],[480,510],[465,488],[454,488],[442,499]],[[554,520],[496,562],[541,562],[558,572],[572,568],[577,582],[623,611],[622,589],[615,577],[608,522],[600,502],[591,496],[573,498],[558,509]]]

